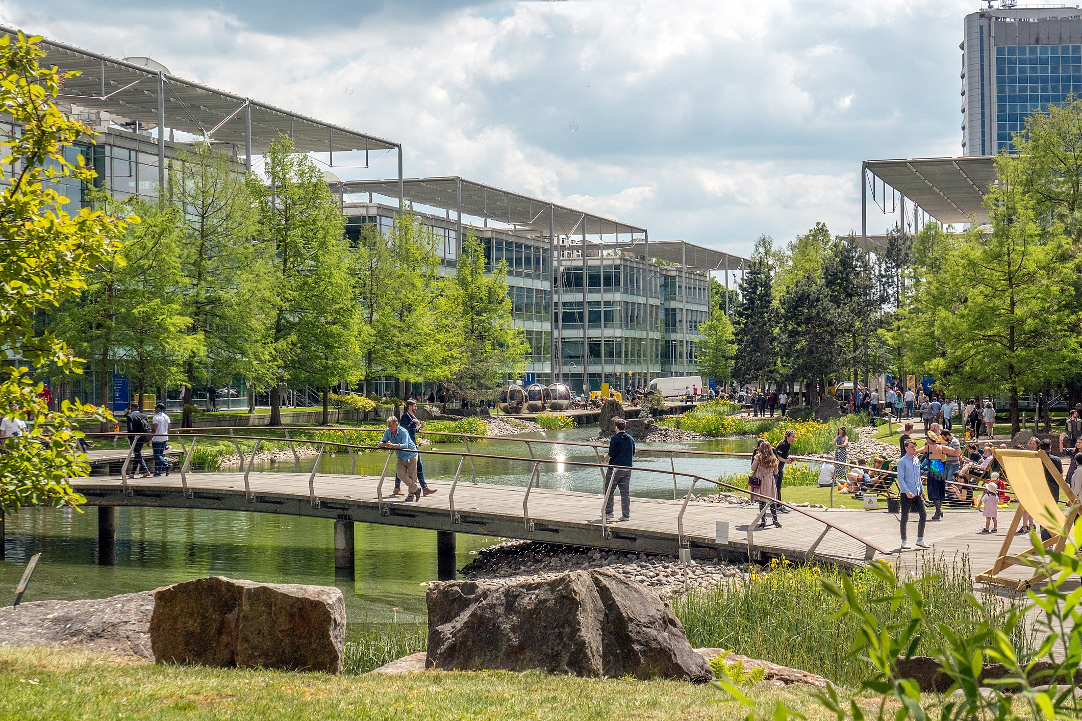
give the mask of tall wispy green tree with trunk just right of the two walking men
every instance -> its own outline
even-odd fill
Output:
[[[209,144],[182,150],[170,168],[170,197],[181,211],[180,261],[185,281],[183,333],[193,341],[184,356],[189,399],[181,416],[192,427],[197,386],[232,380],[235,374],[268,383],[273,362],[262,345],[272,321],[272,254],[252,243],[254,203],[237,164]]]

